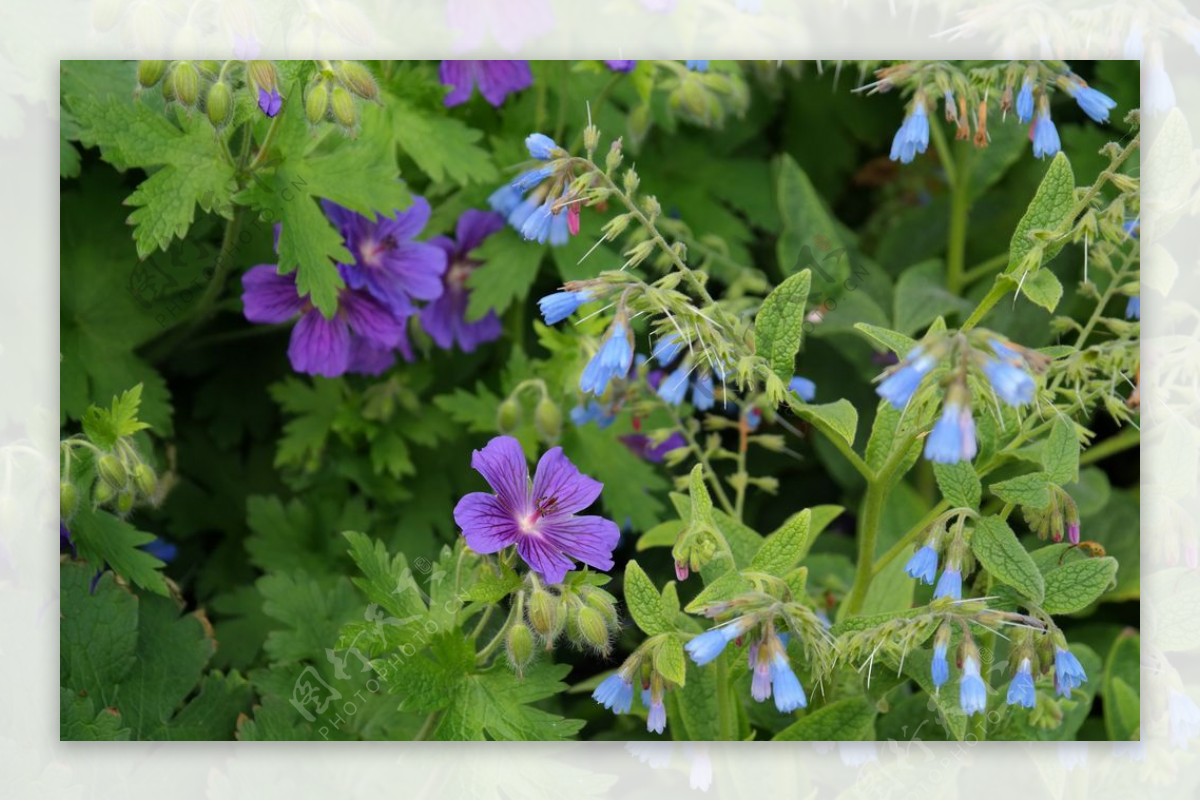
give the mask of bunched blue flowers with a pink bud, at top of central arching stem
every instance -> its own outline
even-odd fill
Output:
[[[554,162],[566,156],[566,151],[544,133],[526,137],[526,147],[529,156],[542,164],[502,186],[487,203],[527,240],[566,245],[571,234],[580,230],[580,206],[563,203],[564,181],[557,177],[559,170]]]

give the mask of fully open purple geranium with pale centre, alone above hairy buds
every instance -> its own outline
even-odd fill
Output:
[[[571,464],[563,448],[542,454],[529,483],[529,465],[521,444],[497,436],[470,457],[496,494],[469,493],[454,510],[467,546],[492,554],[515,544],[523,560],[548,584],[557,584],[578,560],[596,570],[612,570],[612,550],[620,530],[595,514],[576,514],[595,501],[604,488]]]

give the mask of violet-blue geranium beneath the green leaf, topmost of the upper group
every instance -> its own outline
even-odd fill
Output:
[[[400,318],[414,312],[414,299],[442,296],[446,252],[430,242],[413,241],[430,222],[425,198],[414,197],[407,211],[390,217],[380,213],[373,222],[329,200],[322,205],[354,254],[354,264],[341,265],[352,289],[365,289]]]

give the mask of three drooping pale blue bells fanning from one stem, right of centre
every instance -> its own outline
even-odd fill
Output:
[[[988,347],[990,354],[972,351],[972,360],[979,363],[996,397],[1010,406],[1032,403],[1037,384],[1030,374],[1026,351],[995,336],[988,338]],[[941,343],[917,345],[900,365],[884,374],[876,393],[902,410],[936,367],[944,350]],[[970,462],[976,452],[971,395],[964,381],[955,380],[947,391],[941,417],[925,439],[925,458],[941,464],[954,464]]]

